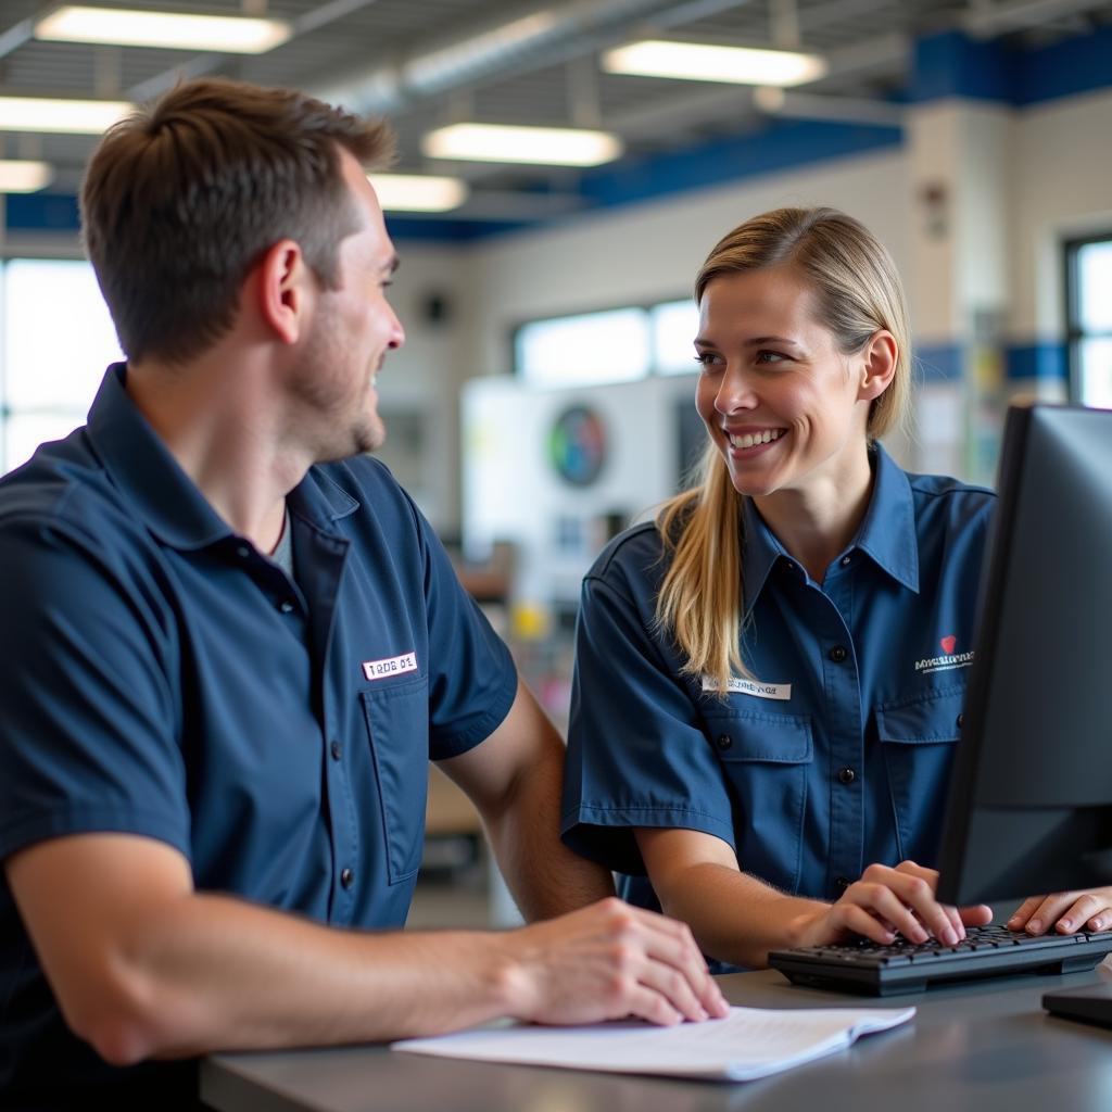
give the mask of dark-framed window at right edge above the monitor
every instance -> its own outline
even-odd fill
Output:
[[[1112,409],[1112,235],[1066,244],[1070,394]]]

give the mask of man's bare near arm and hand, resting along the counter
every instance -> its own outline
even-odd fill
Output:
[[[198,893],[177,850],[135,835],[41,842],[6,867],[67,1023],[119,1065],[725,1009],[687,929],[617,900],[505,933],[371,933]]]

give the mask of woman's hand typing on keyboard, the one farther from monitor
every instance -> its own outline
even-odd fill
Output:
[[[946,945],[965,937],[966,926],[983,926],[992,909],[951,907],[934,898],[939,874],[913,861],[895,868],[870,865],[837,903],[810,912],[796,922],[796,945],[822,946],[841,942],[848,934],[890,943],[896,934],[922,943],[934,935]]]

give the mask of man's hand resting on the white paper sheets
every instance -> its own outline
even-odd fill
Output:
[[[729,1010],[686,925],[616,898],[514,931],[506,943],[518,1019],[577,1024],[633,1015],[669,1025]]]

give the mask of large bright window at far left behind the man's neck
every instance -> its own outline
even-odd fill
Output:
[[[0,471],[9,471],[85,423],[105,368],[122,356],[83,260],[0,266]]]

